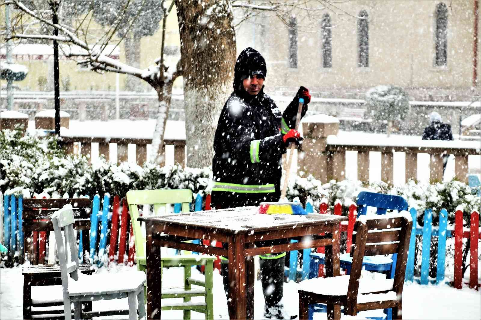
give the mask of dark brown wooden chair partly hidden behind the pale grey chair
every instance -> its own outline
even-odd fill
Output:
[[[49,265],[43,261],[38,261],[38,244],[34,243],[34,232],[47,231],[53,232],[51,215],[61,209],[65,204],[74,207],[75,230],[82,230],[83,251],[89,251],[89,230],[90,230],[90,200],[88,198],[67,198],[67,199],[35,199],[25,198],[23,200],[22,228],[24,231],[25,255],[22,258],[24,266],[22,274],[24,276],[24,319],[44,317],[63,319],[63,298],[62,289],[60,295],[42,295],[40,299],[32,300],[32,287],[44,285],[62,285],[60,265]],[[48,239],[48,237],[47,237]],[[88,262],[88,261],[87,261]],[[92,273],[93,269],[89,263],[80,265],[82,273]],[[37,291],[37,290],[36,290]],[[35,310],[38,307],[58,306],[56,310]],[[92,304],[85,305],[85,310],[91,310]],[[43,308],[46,309],[46,308]],[[49,308],[54,309],[54,308]]]

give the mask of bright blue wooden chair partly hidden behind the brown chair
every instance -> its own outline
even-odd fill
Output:
[[[357,196],[357,216],[366,215],[367,207],[376,208],[376,214],[386,214],[387,210],[403,211],[408,209],[406,200],[400,196],[385,195],[381,193],[362,191]],[[325,254],[313,252],[310,254],[311,263],[309,271],[309,279],[316,278],[319,270],[319,265],[325,264]],[[392,257],[386,256],[367,256],[364,257],[362,267],[363,270],[381,272],[386,274],[387,279],[394,277],[397,255]],[[347,274],[351,274],[351,267],[353,259],[349,253],[342,254],[340,257],[341,268],[346,270]],[[312,319],[314,312],[327,312],[326,305],[313,304],[309,305],[309,319]],[[368,319],[387,319],[392,320],[392,310],[384,309],[386,317],[372,317]]]

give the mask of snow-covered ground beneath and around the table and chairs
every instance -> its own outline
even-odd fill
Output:
[[[129,272],[137,268],[127,266],[112,266],[109,269],[101,268],[97,272]],[[202,277],[195,268],[192,274]],[[380,276],[366,271],[363,276]],[[172,268],[164,271],[163,285],[168,287],[181,286],[182,269]],[[22,319],[22,268],[0,269],[0,319]],[[297,283],[284,283],[283,303],[289,315],[298,314]],[[57,288],[61,290],[61,288]],[[51,289],[52,290],[52,289]],[[46,294],[44,291],[42,294]],[[192,298],[192,301],[202,299]],[[180,301],[180,299],[179,299]],[[263,319],[264,297],[259,281],[255,282],[254,319]],[[94,301],[93,309],[127,308],[127,300]],[[469,289],[455,289],[446,284],[419,285],[405,283],[403,291],[403,318],[404,319],[481,319],[481,291]],[[373,310],[359,313],[356,317],[342,316],[342,319],[365,319],[368,316],[382,315],[382,310]],[[182,311],[164,311],[164,319],[182,319]],[[191,312],[192,319],[204,319],[202,313]],[[127,318],[125,316],[122,319]],[[109,319],[120,319],[109,317]],[[223,291],[222,277],[217,270],[214,271],[214,319],[228,319],[227,299]],[[315,320],[327,319],[325,313],[316,313]]]

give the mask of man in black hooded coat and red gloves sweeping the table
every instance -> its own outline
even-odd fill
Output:
[[[281,113],[274,100],[264,93],[266,61],[252,48],[242,50],[234,67],[234,91],[226,101],[214,138],[212,170],[215,209],[256,206],[277,202],[280,197],[282,154],[291,143],[302,142],[295,126],[299,98],[304,98],[302,116],[311,96],[300,87]],[[284,283],[286,253],[260,257],[261,282],[265,297],[265,317],[284,317],[280,303]],[[224,258],[225,260],[225,258]],[[222,264],[224,288],[228,292],[227,264]]]

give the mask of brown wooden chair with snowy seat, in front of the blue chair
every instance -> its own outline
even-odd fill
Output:
[[[382,217],[382,216],[381,216]],[[406,270],[407,250],[412,221],[407,213],[361,216],[354,225],[350,275],[329,278],[313,278],[299,284],[299,318],[308,319],[308,306],[324,303],[328,307],[328,319],[341,319],[344,314],[355,316],[357,312],[392,308],[392,319],[402,319],[402,295]],[[394,279],[372,280],[361,278],[365,256],[397,253]]]

